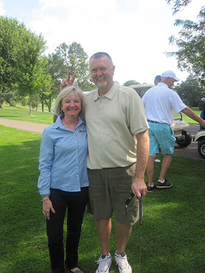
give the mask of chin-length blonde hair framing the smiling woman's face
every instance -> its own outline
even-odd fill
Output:
[[[86,103],[85,95],[81,89],[74,86],[66,87],[58,94],[55,100],[55,113],[57,116],[59,116],[61,113],[62,99],[65,98],[68,94],[72,95],[73,93],[75,93],[75,95],[78,95],[80,97],[81,111],[78,114],[79,117],[81,118],[85,116],[85,103]]]

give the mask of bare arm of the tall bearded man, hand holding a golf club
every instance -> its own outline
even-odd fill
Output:
[[[135,176],[132,181],[132,191],[140,198],[145,196],[147,193],[147,186],[145,184],[145,170],[147,166],[148,156],[149,156],[149,135],[148,130],[141,132],[136,135],[137,138],[137,163]]]

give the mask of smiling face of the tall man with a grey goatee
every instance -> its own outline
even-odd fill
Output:
[[[110,89],[113,86],[114,71],[115,67],[107,56],[90,60],[92,79],[99,89]]]

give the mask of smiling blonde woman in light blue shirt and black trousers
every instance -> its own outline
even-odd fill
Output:
[[[40,144],[38,179],[47,220],[48,246],[53,273],[64,273],[63,226],[66,208],[67,241],[65,264],[71,272],[77,267],[81,224],[88,202],[87,131],[85,97],[76,87],[67,87],[55,102],[56,122],[45,128]],[[60,114],[61,112],[61,114]]]

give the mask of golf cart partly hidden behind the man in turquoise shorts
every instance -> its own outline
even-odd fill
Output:
[[[154,83],[146,83],[144,85],[134,85],[130,87],[133,88],[140,97],[142,97],[145,94],[145,92],[153,86],[154,86]],[[142,91],[145,91],[145,92],[141,94]],[[174,131],[176,143],[181,147],[189,146],[190,143],[192,142],[192,136],[188,131],[185,131],[185,129],[189,128],[189,123],[182,120],[182,115],[180,118],[175,118],[171,126]]]

